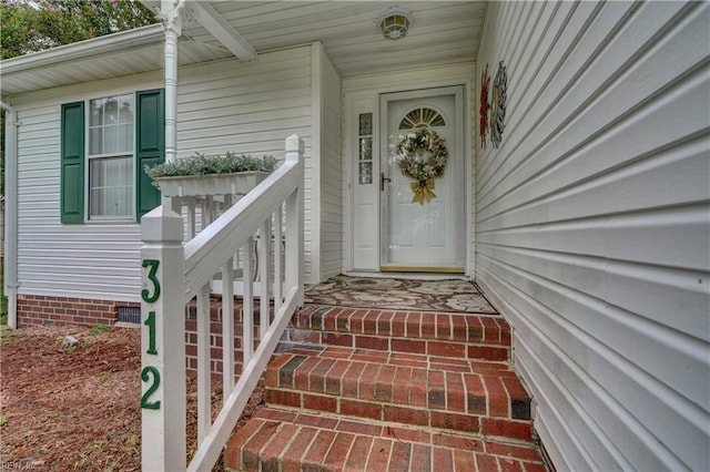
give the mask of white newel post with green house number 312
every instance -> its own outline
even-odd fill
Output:
[[[142,469],[184,471],[185,256],[183,220],[166,205],[141,219]]]

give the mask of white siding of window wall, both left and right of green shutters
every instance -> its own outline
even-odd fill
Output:
[[[155,74],[134,75],[28,94],[14,102],[20,122],[20,295],[140,300],[138,224],[62,226],[59,220],[61,103],[83,100],[88,91],[111,95],[129,85],[150,89],[161,82]],[[297,133],[305,142],[306,173],[312,167],[311,47],[261,54],[252,63],[229,60],[181,68],[178,91],[179,156],[233,151],[283,160],[285,138]],[[306,187],[306,198],[308,193]],[[306,242],[311,238],[306,232]]]

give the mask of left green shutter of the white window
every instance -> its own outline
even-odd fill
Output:
[[[62,105],[61,222],[84,222],[84,102]]]

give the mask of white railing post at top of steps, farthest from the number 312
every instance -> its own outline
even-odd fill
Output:
[[[303,164],[303,141],[286,137],[286,162]],[[298,188],[286,201],[286,290],[297,288],[296,305],[303,305],[303,167]]]

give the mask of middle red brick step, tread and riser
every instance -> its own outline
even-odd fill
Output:
[[[271,362],[266,401],[372,420],[531,439],[530,399],[503,362],[328,347]]]

